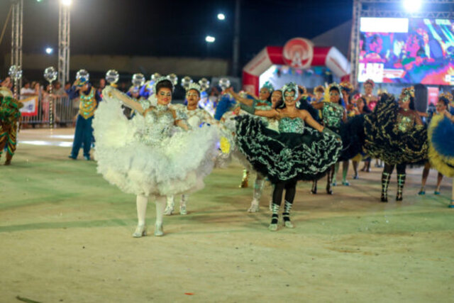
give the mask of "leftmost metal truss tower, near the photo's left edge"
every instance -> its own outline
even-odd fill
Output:
[[[12,4],[11,18],[11,65],[22,69],[22,22],[23,21],[23,0],[15,0]],[[22,86],[22,80],[15,83]]]

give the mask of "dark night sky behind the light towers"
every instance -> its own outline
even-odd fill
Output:
[[[0,0],[3,26],[10,0]],[[71,54],[221,57],[230,59],[234,0],[73,0]],[[57,0],[24,0],[24,53],[57,49]],[[218,12],[226,21],[218,21]],[[240,62],[265,45],[283,45],[294,37],[313,38],[352,15],[352,0],[242,0]],[[207,48],[207,34],[216,42]],[[0,45],[11,47],[8,26]]]

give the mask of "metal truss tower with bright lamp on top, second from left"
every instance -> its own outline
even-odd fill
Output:
[[[70,0],[60,0],[58,15],[58,81],[70,80]]]

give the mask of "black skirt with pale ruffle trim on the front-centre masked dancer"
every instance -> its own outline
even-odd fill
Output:
[[[236,141],[241,153],[272,183],[318,180],[338,161],[342,142],[333,133],[306,126],[304,133],[278,133],[253,116],[239,116]]]

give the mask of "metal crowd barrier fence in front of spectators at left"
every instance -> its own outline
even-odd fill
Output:
[[[26,99],[31,96],[23,96],[21,99]],[[27,116],[23,113],[21,128],[29,127],[42,127],[50,126],[50,97],[38,97],[38,104],[36,105],[36,114]],[[69,97],[53,97],[52,98],[52,112],[53,122],[55,127],[69,127],[73,126],[79,111],[79,98],[70,100]]]

